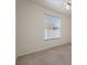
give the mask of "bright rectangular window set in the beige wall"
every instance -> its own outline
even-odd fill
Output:
[[[44,40],[61,37],[61,19],[44,15]]]

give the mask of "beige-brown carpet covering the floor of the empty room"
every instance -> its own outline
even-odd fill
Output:
[[[17,65],[72,65],[72,46],[65,44],[19,57]]]

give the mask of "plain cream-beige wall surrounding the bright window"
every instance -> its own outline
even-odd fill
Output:
[[[44,41],[44,13],[62,18],[62,39]],[[17,3],[17,55],[70,43],[70,18],[26,0]]]

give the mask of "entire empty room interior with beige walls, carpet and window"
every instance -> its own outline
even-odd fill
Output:
[[[72,1],[15,2],[15,65],[72,65]]]

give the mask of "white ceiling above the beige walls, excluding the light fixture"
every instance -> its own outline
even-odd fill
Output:
[[[65,8],[65,2],[68,2],[70,0],[31,0],[37,4],[41,4],[43,7],[50,8],[56,12],[65,13],[70,15],[72,9]]]

